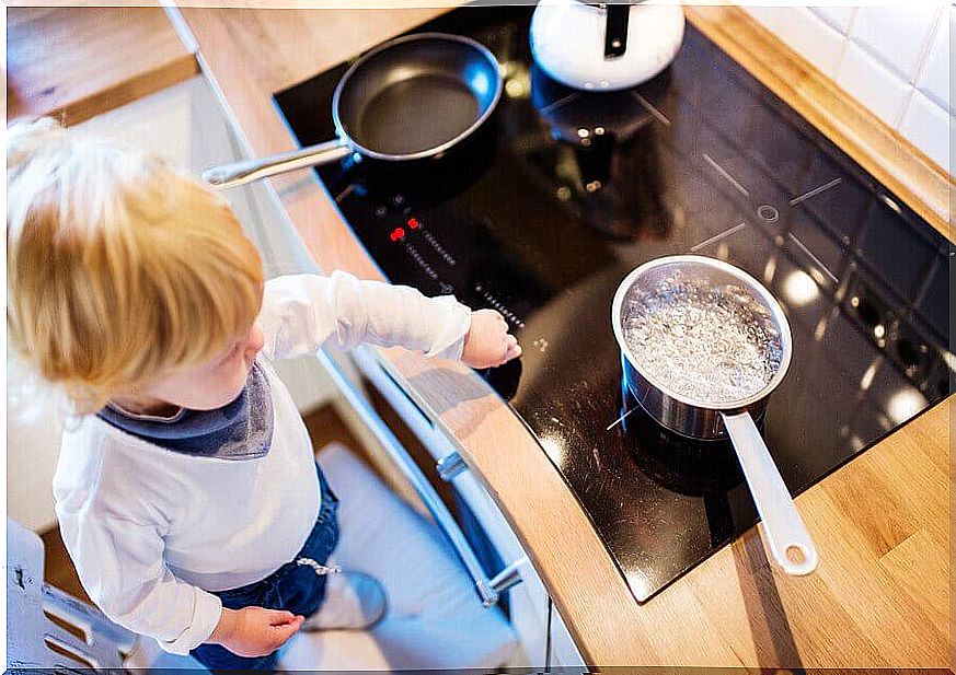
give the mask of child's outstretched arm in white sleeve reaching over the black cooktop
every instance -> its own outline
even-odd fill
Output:
[[[344,350],[361,342],[400,345],[428,357],[464,357],[476,368],[520,354],[497,312],[472,313],[450,295],[426,298],[411,287],[341,271],[267,281],[257,323],[269,358],[312,353],[326,342]]]

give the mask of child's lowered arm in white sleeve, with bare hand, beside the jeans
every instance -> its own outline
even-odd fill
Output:
[[[264,656],[302,625],[303,617],[289,612],[226,609],[217,596],[176,579],[163,562],[163,542],[154,524],[72,511],[59,503],[57,515],[93,602],[113,621],[154,638],[168,652],[188,654],[204,642],[215,642],[241,655]]]

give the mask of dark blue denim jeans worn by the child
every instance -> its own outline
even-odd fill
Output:
[[[308,565],[298,565],[299,558],[309,558],[320,565],[329,560],[329,556],[338,542],[338,522],[335,511],[338,500],[329,487],[325,476],[319,465],[319,484],[322,490],[322,508],[315,526],[306,540],[306,545],[296,558],[262,581],[216,593],[222,600],[222,606],[230,609],[242,607],[265,607],[267,609],[287,609],[293,614],[309,617],[314,614],[325,598],[325,575],[315,573]],[[278,663],[278,652],[268,656],[250,659],[237,656],[218,644],[200,644],[192,652],[193,657],[210,671],[220,670],[275,670]]]

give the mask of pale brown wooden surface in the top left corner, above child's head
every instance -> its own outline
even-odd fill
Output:
[[[7,10],[7,119],[79,124],[199,72],[158,7]]]

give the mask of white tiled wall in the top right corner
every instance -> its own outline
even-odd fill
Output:
[[[956,3],[882,4],[746,9],[953,175],[949,37]]]

